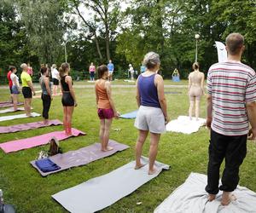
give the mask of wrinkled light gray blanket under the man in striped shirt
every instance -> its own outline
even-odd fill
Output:
[[[238,186],[233,192],[236,201],[231,201],[227,206],[220,204],[222,192],[212,202],[207,199],[207,176],[191,173],[189,178],[155,210],[154,213],[255,213],[256,193],[246,187]]]

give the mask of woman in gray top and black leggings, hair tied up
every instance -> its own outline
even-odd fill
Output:
[[[43,101],[43,118],[44,124],[48,124],[49,119],[49,107],[52,101],[51,96],[51,82],[49,81],[49,70],[46,67],[41,68],[42,77],[39,79],[39,83],[42,89],[41,99]]]

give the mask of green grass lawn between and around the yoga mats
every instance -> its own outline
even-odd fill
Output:
[[[122,82],[123,83],[123,82]],[[186,84],[187,82],[183,82]],[[75,83],[76,84],[76,83]],[[85,136],[61,141],[64,152],[88,146],[98,139],[99,119],[96,115],[96,103],[93,89],[75,89],[78,96],[79,107],[73,114],[73,127],[87,133]],[[186,115],[189,101],[187,89],[166,89],[166,91],[181,91],[181,95],[167,94],[168,112],[172,119],[178,115]],[[0,101],[8,100],[8,89],[1,90]],[[113,99],[119,112],[130,112],[137,108],[135,89],[113,88]],[[20,96],[21,100],[21,96]],[[40,99],[32,101],[34,112],[42,111]],[[20,112],[21,113],[21,112]],[[9,113],[11,114],[11,113]],[[201,102],[201,117],[206,115],[205,98]],[[55,97],[50,108],[50,118],[62,118],[61,97]],[[16,119],[1,122],[1,125],[24,124],[38,121],[40,118]],[[35,159],[44,147],[34,147],[17,153],[5,154],[0,151],[0,188],[3,189],[7,203],[15,204],[17,212],[66,212],[57,204],[51,195],[61,190],[73,187],[96,176],[102,176],[119,166],[129,163],[134,159],[134,145],[137,140],[137,130],[133,127],[134,120],[114,120],[112,129],[120,128],[121,131],[111,131],[111,138],[129,145],[131,148],[124,152],[103,158],[91,164],[65,170],[51,176],[42,177],[32,168],[29,162]],[[49,131],[61,130],[61,126],[27,130],[18,133],[2,134],[0,142],[12,141],[40,135]],[[205,128],[192,135],[166,133],[161,136],[157,160],[171,165],[171,170],[164,171],[160,176],[144,184],[136,192],[119,200],[101,212],[153,212],[172,191],[181,185],[190,172],[207,173],[207,147],[209,131]],[[148,156],[148,141],[143,154]],[[241,166],[242,186],[256,191],[256,147],[252,142],[247,144],[247,158]],[[86,198],[84,198],[86,199]],[[101,202],[99,200],[99,202]],[[143,202],[137,205],[137,202]]]

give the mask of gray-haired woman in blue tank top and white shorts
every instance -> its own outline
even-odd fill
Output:
[[[135,170],[144,166],[141,163],[143,144],[150,133],[148,175],[153,175],[156,172],[154,161],[158,152],[160,135],[166,131],[169,117],[164,93],[164,80],[157,74],[160,69],[160,56],[154,52],[149,52],[145,55],[143,63],[147,70],[137,78],[137,106],[139,110],[134,126],[139,134],[136,143]]]

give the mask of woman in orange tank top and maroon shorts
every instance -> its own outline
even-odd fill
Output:
[[[112,98],[111,83],[108,82],[108,67],[105,65],[97,68],[98,80],[96,80],[96,105],[98,116],[101,120],[100,126],[100,141],[102,152],[113,150],[113,147],[108,147],[109,131],[113,118],[119,118]]]

